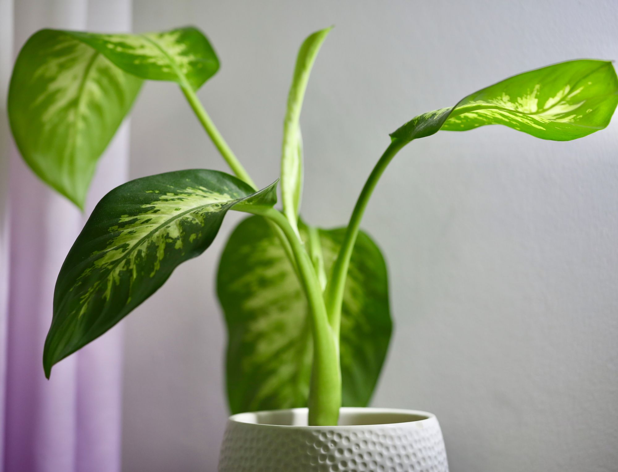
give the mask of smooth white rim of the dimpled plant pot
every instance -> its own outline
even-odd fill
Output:
[[[271,427],[271,428],[302,428],[302,429],[363,429],[363,428],[377,428],[377,427],[394,427],[394,426],[405,426],[410,425],[412,423],[418,424],[423,423],[423,421],[431,421],[436,419],[436,415],[430,413],[428,411],[422,410],[407,410],[405,408],[374,408],[374,407],[341,407],[340,412],[347,415],[358,415],[363,416],[367,415],[376,416],[376,415],[402,415],[402,417],[407,416],[408,418],[416,417],[415,419],[410,419],[410,421],[394,421],[389,423],[366,423],[366,424],[337,424],[336,426],[307,426],[302,424],[274,424],[274,423],[259,423],[260,416],[268,416],[268,415],[286,415],[286,413],[292,414],[307,414],[308,408],[285,408],[282,410],[263,410],[263,411],[247,411],[245,413],[236,413],[235,415],[229,416],[228,421],[231,423],[237,424],[246,424],[249,426],[255,427]],[[341,419],[341,415],[340,415]]]

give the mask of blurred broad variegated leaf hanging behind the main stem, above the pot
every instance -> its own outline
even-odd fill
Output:
[[[319,230],[327,273],[344,232]],[[300,234],[307,240],[302,224]],[[229,238],[219,262],[217,291],[229,335],[227,395],[232,413],[307,406],[313,356],[310,314],[294,269],[261,217],[245,219]],[[369,402],[391,327],[386,264],[375,243],[361,232],[342,310],[344,405]]]

